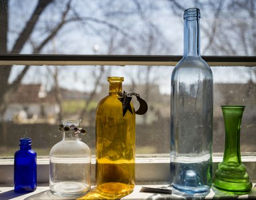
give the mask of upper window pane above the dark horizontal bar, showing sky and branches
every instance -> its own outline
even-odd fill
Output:
[[[255,1],[10,0],[1,5],[1,54],[182,55],[184,9],[199,7],[202,55],[256,55]]]

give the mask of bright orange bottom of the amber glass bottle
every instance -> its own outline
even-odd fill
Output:
[[[97,189],[102,191],[103,193],[109,194],[125,194],[131,193],[133,191],[134,185],[128,185],[125,183],[103,183],[101,185],[97,185]]]

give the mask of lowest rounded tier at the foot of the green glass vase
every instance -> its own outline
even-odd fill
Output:
[[[234,191],[234,192],[250,191],[251,188],[253,187],[253,184],[250,181],[234,183],[234,182],[222,181],[216,177],[214,178],[213,185],[218,189]]]

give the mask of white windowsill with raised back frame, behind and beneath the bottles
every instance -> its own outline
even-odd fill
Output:
[[[163,154],[162,154],[163,155]],[[214,156],[213,158],[213,169],[214,172],[218,163],[222,161],[222,156]],[[246,166],[247,173],[250,175],[250,179],[256,182],[256,156],[245,155],[242,156],[242,162]],[[38,158],[37,160],[37,177],[38,187],[33,193],[18,194],[14,193],[13,190],[13,159],[0,159],[0,199],[1,200],[33,200],[33,199],[63,199],[57,198],[49,193],[48,180],[49,180],[49,159]],[[95,177],[95,158],[92,158],[92,174],[91,180],[94,182]],[[160,157],[159,155],[142,155],[136,157],[136,186],[133,193],[121,198],[121,199],[177,199],[180,198],[177,195],[166,195],[166,194],[153,194],[153,193],[140,193],[141,186],[148,187],[162,187],[168,186],[168,179],[170,177],[170,158],[168,155]],[[96,189],[93,189],[90,193],[95,193]],[[216,193],[215,193],[216,192]],[[99,193],[99,192],[98,192]],[[102,197],[103,194],[101,194]],[[191,198],[188,194],[179,194],[182,197]],[[198,195],[198,194],[197,194]],[[85,196],[86,197],[86,196]],[[82,199],[93,199],[93,198],[82,198]],[[202,198],[202,194],[198,197]],[[230,193],[225,193],[216,190],[214,187],[210,193],[207,194],[205,199],[215,198],[237,198],[232,196]],[[239,199],[256,199],[256,186],[254,184],[253,190],[249,195],[240,195]],[[96,198],[94,198],[96,199]]]

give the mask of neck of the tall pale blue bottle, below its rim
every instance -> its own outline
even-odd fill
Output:
[[[199,17],[184,19],[184,53],[183,57],[200,57],[200,23]]]

